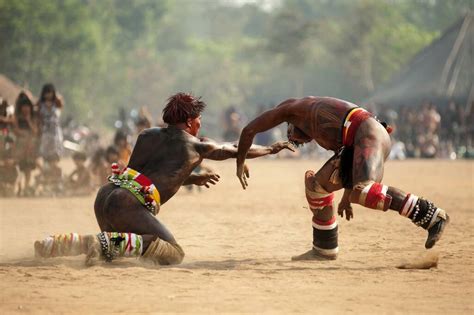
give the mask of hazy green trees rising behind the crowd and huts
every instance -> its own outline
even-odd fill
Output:
[[[209,114],[303,95],[357,101],[397,72],[472,0],[286,0],[272,10],[211,0],[0,0],[0,73],[66,111],[159,115],[178,90]]]

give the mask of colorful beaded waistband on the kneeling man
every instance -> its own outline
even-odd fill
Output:
[[[156,215],[161,203],[160,192],[148,177],[130,167],[120,172],[118,165],[114,163],[109,182],[130,191],[151,213]]]

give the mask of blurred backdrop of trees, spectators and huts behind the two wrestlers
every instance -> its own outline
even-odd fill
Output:
[[[85,180],[81,167],[106,174],[111,161],[127,163],[141,130],[162,125],[177,91],[203,97],[202,133],[218,140],[236,141],[284,99],[333,96],[394,127],[392,158],[472,158],[473,9],[473,0],[0,0],[0,171],[16,176],[18,195],[37,195],[33,182],[44,194],[65,189],[64,156],[77,162],[72,182]],[[292,157],[305,156],[327,153],[311,145]]]

